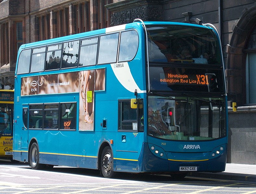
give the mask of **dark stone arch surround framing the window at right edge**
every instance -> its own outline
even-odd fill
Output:
[[[230,43],[227,45],[226,52],[226,76],[228,92],[235,95],[229,96],[229,100],[236,101],[238,106],[248,104],[250,94],[248,84],[248,42],[256,24],[256,7],[245,9],[242,17],[233,27]],[[256,49],[255,49],[256,60]],[[255,61],[256,63],[256,61]],[[256,64],[255,64],[256,65]],[[256,67],[255,67],[256,68]],[[256,72],[255,72],[256,76]],[[256,82],[255,82],[256,83]],[[252,92],[252,91],[251,91]],[[256,90],[255,90],[256,95]],[[256,97],[256,96],[255,96]],[[255,99],[256,100],[256,99]],[[256,103],[256,101],[255,101]]]

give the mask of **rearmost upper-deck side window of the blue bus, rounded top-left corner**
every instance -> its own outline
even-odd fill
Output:
[[[17,74],[29,73],[31,49],[21,51],[18,60]]]

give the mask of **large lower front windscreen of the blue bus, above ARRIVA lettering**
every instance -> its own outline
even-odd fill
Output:
[[[224,99],[148,97],[148,135],[179,141],[206,141],[226,136]]]

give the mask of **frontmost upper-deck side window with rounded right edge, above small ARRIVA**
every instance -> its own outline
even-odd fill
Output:
[[[137,53],[138,46],[139,37],[135,30],[121,32],[118,62],[132,60]]]

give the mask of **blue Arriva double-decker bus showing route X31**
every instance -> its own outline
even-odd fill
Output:
[[[136,19],[24,44],[17,61],[13,158],[32,169],[225,170],[226,82],[214,26]]]

